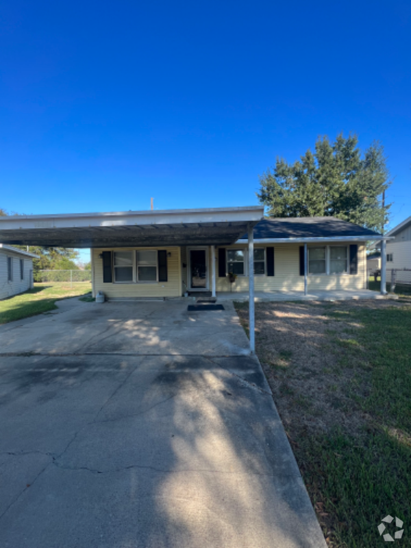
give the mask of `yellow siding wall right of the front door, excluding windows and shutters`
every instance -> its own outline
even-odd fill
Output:
[[[350,242],[336,242],[324,245],[349,245]],[[351,242],[352,243],[352,242]],[[254,285],[256,291],[303,291],[304,277],[299,275],[299,244],[258,245],[254,247],[274,247],[274,276],[256,275]],[[315,246],[313,246],[315,247]],[[231,245],[226,249],[247,249],[246,245]],[[218,277],[218,253],[216,254],[217,291],[248,291],[248,276],[238,276],[232,284],[227,278]],[[366,288],[366,249],[358,245],[358,273],[308,275],[308,290],[357,290]]]

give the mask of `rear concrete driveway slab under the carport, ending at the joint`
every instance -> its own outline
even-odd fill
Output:
[[[97,304],[67,299],[60,301],[58,312],[0,326],[0,349],[2,353],[140,356],[249,353],[233,303],[224,307],[189,313],[182,300]]]

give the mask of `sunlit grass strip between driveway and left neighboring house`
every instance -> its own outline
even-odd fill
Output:
[[[91,291],[90,282],[34,284],[34,288],[9,299],[0,301],[0,324],[36,316],[58,308],[55,301],[67,297],[86,295]]]

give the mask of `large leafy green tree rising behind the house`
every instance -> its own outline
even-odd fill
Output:
[[[335,216],[384,231],[390,186],[382,144],[375,141],[362,153],[357,136],[318,138],[300,160],[288,164],[277,158],[273,169],[260,176],[260,202],[269,216]]]

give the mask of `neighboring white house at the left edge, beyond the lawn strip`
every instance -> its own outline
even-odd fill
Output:
[[[33,287],[33,253],[0,244],[0,299]]]

